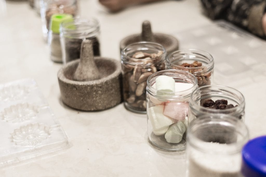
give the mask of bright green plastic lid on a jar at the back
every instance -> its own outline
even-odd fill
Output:
[[[51,16],[51,30],[53,33],[60,33],[60,24],[63,21],[73,21],[73,16],[70,14],[53,14]]]

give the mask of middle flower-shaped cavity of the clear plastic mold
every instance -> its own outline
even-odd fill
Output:
[[[5,108],[0,113],[0,118],[7,122],[24,122],[25,120],[31,120],[39,113],[38,106],[34,106],[28,103],[19,103]]]

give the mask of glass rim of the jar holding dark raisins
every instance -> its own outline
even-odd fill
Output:
[[[209,109],[207,107],[204,107],[204,106],[201,106],[201,105],[197,104],[196,101],[198,101],[198,99],[194,100],[193,96],[195,96],[200,90],[204,90],[205,88],[210,88],[211,89],[211,87],[215,87],[217,89],[221,89],[221,91],[230,89],[230,90],[234,91],[234,93],[237,93],[238,96],[240,96],[240,101],[241,102],[239,103],[238,106],[235,106],[235,107],[232,107],[232,108],[229,108],[229,109]],[[193,109],[206,111],[208,113],[210,113],[210,112],[212,112],[212,113],[228,113],[228,111],[234,112],[237,109],[244,110],[245,109],[245,98],[244,98],[244,96],[243,96],[243,94],[241,92],[239,92],[238,90],[236,90],[236,89],[234,89],[232,87],[228,87],[228,86],[225,86],[225,85],[205,85],[205,86],[202,86],[200,88],[195,89],[191,93],[189,104],[193,107]]]

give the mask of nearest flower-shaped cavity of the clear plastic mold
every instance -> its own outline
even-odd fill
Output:
[[[21,126],[15,129],[11,133],[11,139],[16,145],[35,146],[43,140],[46,140],[50,132],[50,127],[44,126],[43,124],[28,124],[27,126]]]

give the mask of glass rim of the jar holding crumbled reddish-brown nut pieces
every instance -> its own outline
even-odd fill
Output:
[[[184,54],[198,54],[199,52],[201,53],[200,55],[203,56],[205,59],[207,59],[207,61],[209,61],[209,63],[207,63],[204,66],[200,66],[200,67],[194,67],[194,68],[189,68],[189,67],[182,67],[182,66],[178,66],[172,63],[172,61],[174,59],[176,59],[177,56],[173,57],[174,54],[179,54],[178,56],[182,55],[182,52],[184,52]],[[197,53],[198,52],[198,53]],[[171,58],[172,57],[172,58]],[[189,56],[191,57],[191,56]],[[171,60],[173,59],[173,60]],[[178,59],[178,60],[182,60],[182,59]],[[196,71],[193,72],[193,74],[197,74],[197,73],[202,73],[202,72],[207,72],[213,69],[214,67],[214,59],[213,56],[203,50],[197,50],[197,49],[185,49],[185,50],[177,50],[177,51],[173,51],[172,53],[170,53],[167,58],[166,58],[167,64],[170,63],[171,65],[173,65],[174,67],[180,69],[180,70],[195,70],[195,69],[202,69],[201,71]]]

